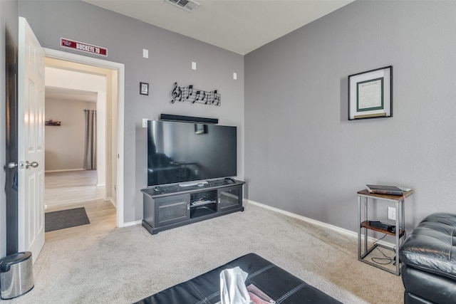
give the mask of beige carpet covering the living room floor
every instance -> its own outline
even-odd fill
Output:
[[[356,237],[245,205],[154,236],[130,226],[48,242],[35,288],[9,303],[132,303],[249,252],[343,303],[403,302],[399,276],[358,261]]]

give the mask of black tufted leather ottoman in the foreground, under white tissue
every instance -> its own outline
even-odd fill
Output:
[[[246,285],[254,284],[276,303],[341,304],[321,290],[296,278],[255,253],[235,259],[207,273],[177,284],[140,300],[140,304],[216,304],[220,301],[220,272],[239,266],[249,276]]]

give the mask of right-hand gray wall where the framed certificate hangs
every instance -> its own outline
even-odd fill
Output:
[[[456,211],[455,50],[455,1],[355,1],[247,54],[248,198],[351,231],[369,183],[415,189],[408,229]],[[394,116],[348,121],[348,75],[387,65]]]

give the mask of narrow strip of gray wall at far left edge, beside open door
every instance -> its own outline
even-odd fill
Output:
[[[6,256],[6,194],[5,194],[5,170],[6,164],[6,62],[5,62],[5,38],[6,32],[14,40],[18,41],[18,8],[17,1],[0,1],[0,258]]]

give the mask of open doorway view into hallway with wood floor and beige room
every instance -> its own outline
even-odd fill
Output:
[[[46,241],[115,228],[115,197],[110,194],[110,185],[106,191],[105,184],[106,159],[111,158],[106,146],[112,141],[106,137],[107,130],[112,129],[106,122],[113,121],[112,111],[107,110],[117,104],[113,94],[107,94],[107,80],[112,73],[117,72],[46,58]],[[115,175],[115,169],[110,173]],[[86,212],[90,226],[57,229],[53,224],[56,217],[51,212],[74,209]],[[61,227],[70,222],[63,221]]]

